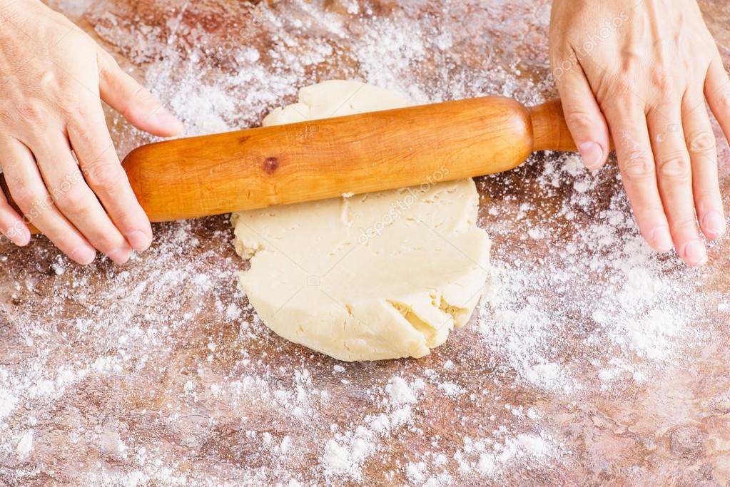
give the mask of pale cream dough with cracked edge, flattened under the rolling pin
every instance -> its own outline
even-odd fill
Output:
[[[264,125],[406,106],[350,81],[304,87]],[[442,175],[434,174],[431,182]],[[490,241],[472,179],[233,214],[240,285],[277,335],[347,361],[423,357],[469,321]]]

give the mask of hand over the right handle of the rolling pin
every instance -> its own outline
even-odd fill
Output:
[[[730,137],[730,79],[695,0],[554,0],[550,62],[585,165],[609,134],[642,235],[689,265],[725,233],[705,99]]]

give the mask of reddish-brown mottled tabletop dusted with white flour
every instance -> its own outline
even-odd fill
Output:
[[[701,4],[730,62],[730,6]],[[256,125],[332,78],[419,102],[556,95],[549,1],[53,5],[188,134]],[[120,155],[150,140],[108,119]],[[575,156],[477,187],[490,288],[420,360],[339,363],[269,332],[237,291],[225,216],[155,225],[122,267],[3,242],[0,485],[730,482],[727,239],[700,270],[651,254],[615,166]]]

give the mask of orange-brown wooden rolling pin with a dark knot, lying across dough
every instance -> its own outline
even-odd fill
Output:
[[[488,96],[163,141],[123,167],[162,222],[493,174],[536,150],[575,150],[560,102]]]

